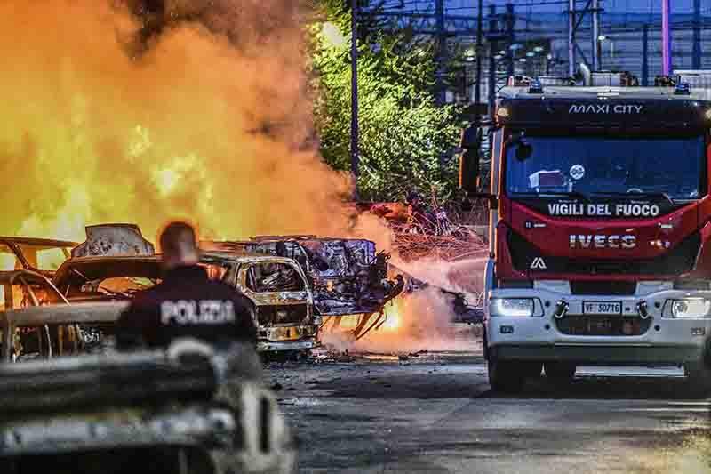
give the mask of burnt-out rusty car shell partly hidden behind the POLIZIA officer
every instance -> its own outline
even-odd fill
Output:
[[[308,282],[295,261],[206,252],[200,265],[211,278],[236,287],[251,301],[259,350],[316,347],[320,318],[313,314]],[[160,281],[160,256],[155,254],[76,257],[54,276],[54,284],[71,302],[127,301]]]

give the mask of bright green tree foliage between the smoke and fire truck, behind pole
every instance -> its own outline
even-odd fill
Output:
[[[349,170],[350,12],[343,0],[321,4],[324,17],[310,31],[316,127],[326,162]],[[436,104],[434,45],[369,17],[358,25],[361,199],[402,199],[410,189],[451,196],[459,109]]]

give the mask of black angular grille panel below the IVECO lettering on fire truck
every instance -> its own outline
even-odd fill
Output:
[[[546,269],[537,269],[536,274],[571,273],[579,275],[680,275],[694,268],[701,245],[698,232],[686,237],[669,252],[653,259],[571,259],[570,257],[545,256],[523,236],[508,232],[508,249],[514,269],[528,272],[534,259],[543,256]]]

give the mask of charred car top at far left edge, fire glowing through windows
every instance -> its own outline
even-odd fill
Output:
[[[52,276],[76,242],[34,237],[0,237],[0,270],[28,269]]]

